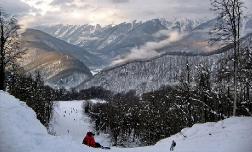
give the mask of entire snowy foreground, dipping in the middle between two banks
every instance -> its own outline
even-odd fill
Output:
[[[183,135],[186,137],[183,137]],[[252,117],[233,117],[217,123],[196,124],[154,146],[116,148],[111,152],[251,152]],[[0,91],[0,152],[98,152],[71,136],[52,136],[24,102]]]

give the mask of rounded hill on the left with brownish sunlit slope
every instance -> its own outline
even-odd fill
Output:
[[[26,50],[21,65],[27,73],[40,71],[50,86],[70,88],[92,77],[85,64],[98,59],[85,50],[34,29],[26,30],[21,40]]]

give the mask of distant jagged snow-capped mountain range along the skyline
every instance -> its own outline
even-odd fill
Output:
[[[161,18],[104,27],[100,25],[54,25],[36,28],[85,48],[105,60],[105,65],[107,65],[118,58],[125,58],[132,53],[133,49],[144,48],[157,51],[152,56],[164,52],[201,54],[214,51],[222,46],[221,43],[214,45],[208,43],[211,37],[209,32],[214,28],[216,22],[216,19],[204,21]],[[243,36],[252,32],[251,26],[252,17],[249,16],[243,23]],[[179,38],[172,38],[171,33],[175,31],[178,33],[176,37]],[[172,43],[169,42],[170,39],[174,39]]]

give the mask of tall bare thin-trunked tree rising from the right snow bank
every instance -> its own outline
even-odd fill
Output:
[[[234,107],[233,115],[237,109],[237,71],[240,51],[240,29],[243,15],[243,2],[241,0],[210,0],[212,10],[217,12],[217,24],[210,34],[212,42],[224,41],[234,46]]]

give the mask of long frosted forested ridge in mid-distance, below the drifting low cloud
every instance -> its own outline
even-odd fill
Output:
[[[252,34],[247,35],[241,41],[241,45],[251,45]],[[159,89],[164,85],[173,85],[186,71],[187,63],[190,63],[191,77],[194,77],[197,66],[207,63],[213,72],[218,67],[217,61],[229,51],[232,45],[225,46],[205,53],[178,53],[167,52],[148,60],[138,60],[102,70],[93,78],[83,82],[78,90],[92,86],[101,86],[114,92],[128,92],[136,90],[138,94]],[[188,61],[188,62],[187,62]]]

